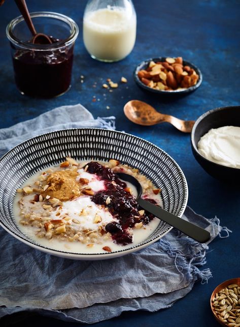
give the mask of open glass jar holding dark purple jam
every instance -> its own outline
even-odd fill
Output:
[[[7,26],[15,81],[25,95],[52,98],[71,87],[74,43],[78,25],[71,18],[51,12],[30,14],[38,33],[49,36],[52,44],[33,44],[22,16]]]

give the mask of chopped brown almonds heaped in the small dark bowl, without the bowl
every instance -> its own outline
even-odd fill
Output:
[[[139,79],[155,90],[174,91],[197,83],[196,71],[183,65],[183,58],[167,57],[165,61],[149,63],[148,68],[138,72]]]

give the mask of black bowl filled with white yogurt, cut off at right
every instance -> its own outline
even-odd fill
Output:
[[[210,175],[240,182],[240,106],[203,113],[191,133],[192,153]]]

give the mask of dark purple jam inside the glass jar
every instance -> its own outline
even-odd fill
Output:
[[[50,37],[53,45],[60,40]],[[19,49],[13,56],[15,80],[21,93],[52,98],[68,90],[73,66],[73,46],[51,50]]]

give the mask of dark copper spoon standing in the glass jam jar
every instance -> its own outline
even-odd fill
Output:
[[[30,29],[31,34],[33,35],[31,42],[33,44],[52,44],[51,39],[46,34],[36,32],[29,11],[27,9],[25,0],[15,0],[15,3],[18,6],[18,9],[22,14],[28,28]]]

